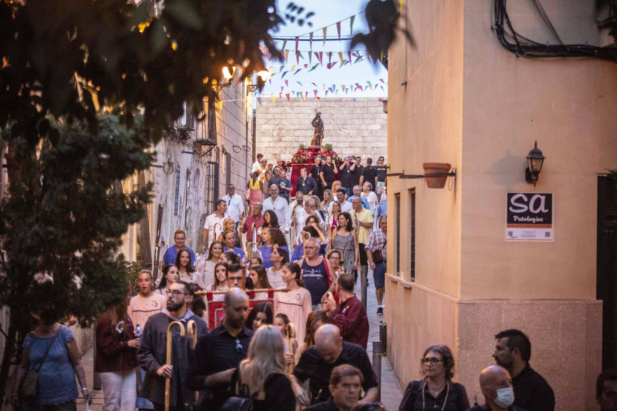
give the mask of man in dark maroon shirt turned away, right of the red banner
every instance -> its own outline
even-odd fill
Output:
[[[366,350],[368,342],[368,318],[362,302],[354,294],[354,277],[348,273],[342,273],[336,280],[334,288],[341,304],[330,296],[324,299],[323,309],[329,313],[330,322],[341,330],[343,341],[358,344]]]

